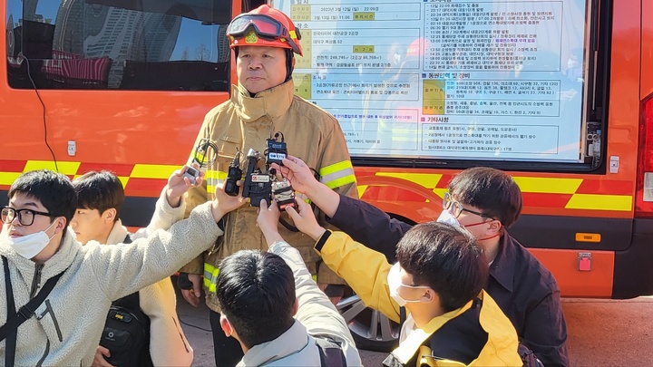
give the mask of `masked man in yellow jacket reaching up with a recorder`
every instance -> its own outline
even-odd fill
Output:
[[[488,265],[469,232],[445,223],[417,225],[397,244],[393,266],[345,233],[321,227],[307,203],[287,210],[297,228],[317,241],[314,248],[325,264],[346,279],[365,305],[395,322],[407,314],[399,347],[384,366],[521,365],[514,327],[482,291]],[[268,209],[261,203],[258,227],[271,246],[288,246],[278,236],[277,218],[274,204]]]

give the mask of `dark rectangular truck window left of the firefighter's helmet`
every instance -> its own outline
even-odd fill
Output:
[[[229,2],[7,2],[16,89],[228,91]]]

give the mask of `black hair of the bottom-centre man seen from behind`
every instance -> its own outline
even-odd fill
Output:
[[[285,333],[295,322],[295,277],[281,257],[242,250],[219,265],[220,310],[248,348]]]

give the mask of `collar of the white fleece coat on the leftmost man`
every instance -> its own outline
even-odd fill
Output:
[[[47,280],[71,266],[74,257],[82,247],[82,245],[77,242],[73,229],[66,227],[66,231],[66,235],[63,237],[59,249],[54,256],[50,257],[50,259],[44,263],[44,266],[41,269],[41,279],[43,280]],[[36,269],[36,266],[34,265],[36,263],[18,255],[14,249],[9,246],[6,239],[7,232],[5,231],[3,234],[0,234],[0,255],[5,256],[9,263],[18,269],[18,272],[23,276],[26,282],[31,282],[34,278],[34,271]]]

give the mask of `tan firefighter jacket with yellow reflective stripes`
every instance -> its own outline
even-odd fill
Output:
[[[242,152],[240,169],[247,172],[249,149],[258,150],[264,157],[266,140],[280,131],[288,146],[288,154],[298,157],[319,174],[320,181],[343,195],[357,198],[356,177],[349,159],[345,137],[336,118],[315,104],[295,95],[292,80],[277,87],[259,92],[251,97],[242,85],[232,86],[231,98],[207,113],[200,134],[195,142],[197,147],[202,138],[209,139],[217,148],[215,160],[206,169],[203,184],[191,188],[187,193],[187,208],[213,198],[215,187],[227,178],[229,164],[237,151]],[[211,159],[211,151],[204,152]],[[191,152],[191,157],[195,151]],[[258,161],[265,171],[265,159]],[[292,220],[282,214],[288,223]],[[319,217],[324,217],[321,215]],[[204,275],[207,291],[207,304],[219,311],[215,299],[215,279],[219,273],[219,260],[241,249],[267,250],[265,238],[256,227],[257,208],[245,205],[225,217],[223,237],[219,237],[210,251],[197,257],[181,272]],[[279,233],[291,246],[295,246],[307,263],[311,274],[317,274],[319,256],[312,247],[314,241],[301,232],[291,232],[279,225]],[[342,283],[327,266],[320,270],[322,283]]]

